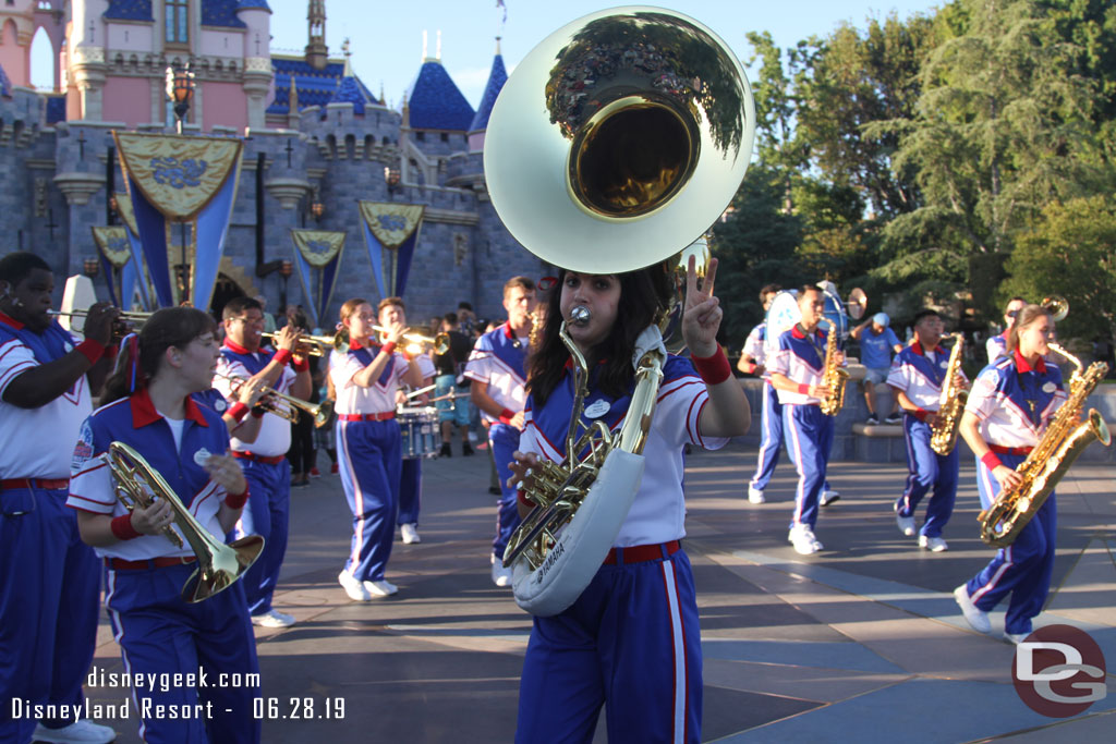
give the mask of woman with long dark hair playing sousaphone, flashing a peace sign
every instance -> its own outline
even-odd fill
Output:
[[[683,448],[719,448],[725,437],[745,433],[750,422],[748,399],[715,339],[722,318],[712,294],[715,273],[712,261],[699,290],[692,263],[687,272],[682,334],[693,358],[672,355],[663,365],[643,452],[647,466],[614,548],[573,606],[533,618],[517,742],[589,741],[602,705],[609,741],[701,741],[701,634],[690,559],[680,545]],[[589,321],[570,323],[568,332],[593,370],[586,412],[602,412],[596,417],[615,428],[635,386],[637,337],[670,294],[658,265],[606,276],[564,270],[559,281],[531,361],[516,481],[540,457],[558,461],[566,454],[552,444],[566,438],[575,395],[569,352],[558,336],[561,320],[575,307],[589,311]],[[550,694],[555,689],[561,695]]]

